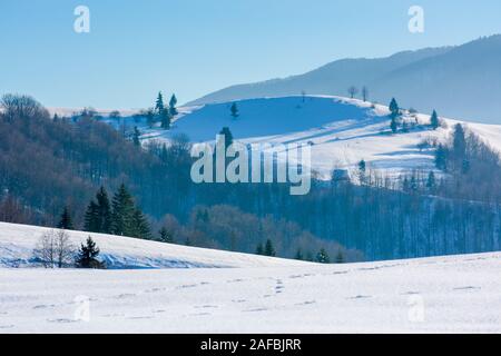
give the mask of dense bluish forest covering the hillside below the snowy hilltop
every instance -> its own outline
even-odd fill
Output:
[[[51,118],[29,97],[7,96],[2,107],[4,221],[57,226],[67,207],[73,228],[99,231],[96,194],[102,187],[112,205],[124,186],[134,200],[129,216],[144,212],[136,217],[147,227],[124,235],[167,243],[263,253],[271,239],[277,256],[331,261],[340,251],[374,260],[501,246],[499,158],[460,127],[435,147],[442,175],[394,181],[360,165],[356,185],[333,176],[313,180],[310,195],[291,196],[284,184],[193,184],[186,137],[141,147],[86,116]]]

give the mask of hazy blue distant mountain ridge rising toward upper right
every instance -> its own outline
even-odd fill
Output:
[[[387,103],[396,97],[420,112],[469,121],[501,123],[501,34],[458,47],[404,51],[387,58],[342,59],[304,75],[218,90],[188,105],[258,97],[345,96],[350,86],[370,90],[370,99]]]

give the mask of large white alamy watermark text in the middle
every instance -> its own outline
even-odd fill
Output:
[[[288,182],[294,196],[311,189],[310,145],[226,145],[225,136],[217,135],[215,145],[195,145],[191,157],[197,158],[190,171],[196,184]]]

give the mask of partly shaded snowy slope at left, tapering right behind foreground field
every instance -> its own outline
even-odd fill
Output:
[[[0,268],[35,267],[33,249],[49,228],[0,222]],[[200,268],[302,266],[306,263],[149,240],[68,231],[77,248],[90,235],[108,268]]]

